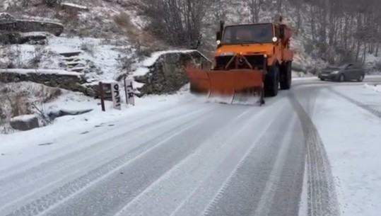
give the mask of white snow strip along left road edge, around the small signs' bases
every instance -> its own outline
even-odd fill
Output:
[[[121,96],[122,101],[124,101],[124,93],[122,91]],[[83,115],[67,115],[57,118],[52,125],[46,127],[15,132],[8,135],[0,133],[0,154],[12,155],[11,159],[8,157],[9,161],[1,161],[0,158],[0,169],[3,169],[4,166],[8,166],[12,162],[23,161],[28,159],[28,157],[35,157],[36,154],[43,154],[44,152],[38,148],[38,144],[56,142],[62,139],[62,137],[71,136],[73,133],[78,134],[78,132],[95,130],[95,125],[114,124],[122,118],[139,118],[139,116],[143,118],[145,115],[173,106],[179,106],[189,100],[188,93],[178,93],[172,96],[146,96],[135,98],[135,106],[127,106],[127,104],[122,102],[122,110],[113,109],[112,102],[105,101],[106,112],[102,112],[100,100],[83,96],[81,93],[65,91],[56,101],[45,104],[46,112],[50,110],[87,109],[93,109],[93,111]],[[28,140],[28,142],[25,142],[25,140]],[[28,155],[18,155],[16,152],[28,152]]]

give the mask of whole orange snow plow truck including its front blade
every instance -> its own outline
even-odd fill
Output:
[[[264,104],[264,96],[276,96],[291,88],[290,50],[292,31],[279,23],[224,26],[216,34],[213,68],[187,67],[190,91],[209,98],[228,98],[228,103]]]

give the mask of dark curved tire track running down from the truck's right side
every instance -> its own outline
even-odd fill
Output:
[[[332,169],[319,132],[295,95],[291,94],[290,101],[302,124],[307,148],[308,215],[340,215]]]

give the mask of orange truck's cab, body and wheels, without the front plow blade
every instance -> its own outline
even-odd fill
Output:
[[[276,96],[279,84],[281,89],[291,88],[291,36],[291,29],[281,23],[224,26],[221,21],[220,30],[216,33],[217,49],[213,69],[249,69],[250,66],[264,70],[266,92],[269,96]],[[236,55],[244,57],[240,59],[240,64],[229,64],[230,59]]]

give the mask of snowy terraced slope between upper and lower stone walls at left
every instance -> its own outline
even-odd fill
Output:
[[[65,57],[59,54],[79,52],[72,62],[83,64],[86,78],[115,79],[121,73],[122,57],[131,57],[134,49],[129,42],[117,42],[115,40],[102,40],[97,38],[66,38],[49,37],[48,45],[10,45],[0,51],[0,64],[13,62],[14,67],[28,66],[35,58],[40,62],[40,69],[68,69]],[[69,63],[70,64],[70,63]],[[32,67],[29,67],[32,68]]]

